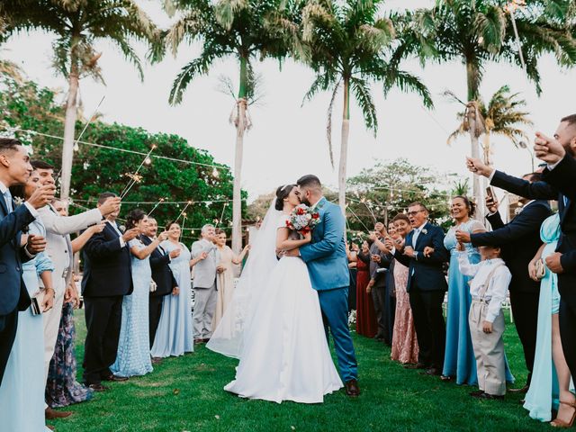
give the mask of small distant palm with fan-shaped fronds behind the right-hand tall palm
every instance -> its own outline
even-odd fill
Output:
[[[462,103],[452,92],[445,92],[456,101]],[[479,103],[479,121],[483,125],[482,153],[484,163],[491,165],[491,135],[501,135],[512,141],[517,148],[521,148],[522,139],[527,139],[527,133],[520,129],[521,126],[532,126],[534,122],[528,116],[526,101],[519,99],[519,94],[510,94],[508,85],[502,85],[498,91],[492,95],[488,106]],[[462,121],[457,130],[448,137],[448,144],[465,133],[471,132],[470,122],[464,112],[458,114]]]

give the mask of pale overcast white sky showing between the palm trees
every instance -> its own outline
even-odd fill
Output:
[[[167,27],[170,20],[159,1],[140,0],[139,3],[159,25]],[[434,0],[388,0],[390,8],[419,7]],[[34,32],[9,40],[0,56],[20,64],[31,79],[41,85],[66,89],[66,82],[51,68],[49,34]],[[126,62],[112,45],[100,43],[103,52],[100,65],[106,86],[90,79],[81,82],[81,96],[86,115],[106,95],[100,109],[104,121],[118,121],[143,127],[151,132],[176,133],[196,148],[205,148],[220,163],[233,165],[235,130],[229,124],[233,99],[218,91],[221,75],[238,83],[238,65],[234,59],[217,62],[209,76],[202,76],[191,85],[178,106],[167,103],[168,92],[179,69],[200,51],[200,45],[181,46],[176,58],[167,57],[162,63],[145,66],[144,82],[139,81],[134,67]],[[144,47],[139,47],[144,55]],[[309,69],[291,61],[279,70],[272,60],[255,64],[264,77],[265,95],[259,106],[251,109],[254,123],[245,139],[242,187],[250,200],[259,193],[268,193],[279,184],[293,182],[300,175],[314,173],[326,184],[338,184],[338,166],[329,163],[326,142],[326,110],[329,94],[319,94],[312,102],[302,104],[302,95],[313,80]],[[464,157],[470,151],[469,139],[459,139],[451,147],[446,137],[455,130],[455,114],[461,106],[440,94],[450,89],[465,98],[464,66],[459,63],[442,66],[429,65],[422,69],[418,62],[408,61],[404,68],[418,74],[434,96],[436,109],[426,111],[414,94],[393,91],[384,99],[382,87],[374,85],[380,129],[374,136],[365,130],[362,112],[352,105],[348,175],[356,175],[374,160],[407,157],[414,164],[434,166],[437,170],[467,175]],[[491,64],[482,83],[484,99],[490,99],[501,85],[508,84],[513,92],[520,92],[528,102],[528,111],[536,123],[536,130],[553,133],[558,121],[576,112],[576,70],[561,70],[554,58],[546,57],[540,67],[544,93],[536,96],[534,85],[518,68]],[[342,97],[337,100],[333,120],[335,153],[338,155]],[[530,136],[534,130],[528,130]],[[76,132],[78,133],[78,132]],[[530,169],[530,155],[526,149],[513,148],[506,139],[493,139],[495,166],[519,175]],[[338,156],[337,156],[338,157]],[[338,163],[338,160],[337,160]]]

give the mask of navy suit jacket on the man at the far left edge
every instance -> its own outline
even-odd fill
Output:
[[[22,279],[22,262],[30,258],[20,247],[20,238],[22,229],[32,220],[34,217],[25,205],[8,213],[4,197],[0,196],[0,315],[8,315],[16,307],[25,311],[30,306]]]

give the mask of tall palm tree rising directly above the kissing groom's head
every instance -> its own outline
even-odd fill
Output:
[[[303,9],[303,40],[310,47],[308,64],[316,79],[304,100],[310,100],[320,91],[330,91],[327,135],[330,161],[334,166],[331,146],[331,120],[334,103],[340,89],[343,97],[340,160],[338,166],[338,202],[346,209],[346,177],[348,133],[350,129],[350,99],[364,114],[365,127],[378,130],[378,118],[370,85],[383,82],[386,94],[392,87],[418,93],[427,107],[432,106],[428,88],[417,76],[390,62],[384,51],[391,49],[395,40],[392,21],[378,16],[383,0],[310,0]]]

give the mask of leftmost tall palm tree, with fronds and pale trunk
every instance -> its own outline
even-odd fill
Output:
[[[68,82],[60,191],[67,198],[80,79],[92,76],[103,82],[98,67],[102,53],[96,52],[94,44],[111,41],[137,67],[141,78],[140,60],[130,42],[154,40],[156,27],[134,0],[5,0],[4,7],[13,12],[11,31],[41,29],[56,34],[54,67]]]

